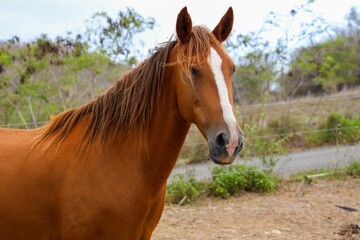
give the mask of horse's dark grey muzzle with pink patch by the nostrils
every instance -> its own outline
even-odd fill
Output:
[[[226,132],[219,132],[214,137],[208,136],[210,158],[220,165],[232,163],[244,147],[244,137],[240,132],[230,137]]]

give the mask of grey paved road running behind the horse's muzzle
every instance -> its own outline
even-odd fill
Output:
[[[317,148],[304,152],[291,153],[281,157],[275,165],[274,171],[281,177],[288,177],[295,173],[316,170],[316,169],[336,169],[348,166],[353,161],[360,161],[360,144],[352,146],[340,146],[331,148]],[[237,159],[235,163],[256,165],[261,168],[259,159],[244,161]],[[175,167],[172,175],[176,173],[186,173],[193,170],[198,179],[211,177],[211,169],[214,163],[208,161],[203,164],[192,164],[185,167]],[[171,177],[169,178],[171,179]]]

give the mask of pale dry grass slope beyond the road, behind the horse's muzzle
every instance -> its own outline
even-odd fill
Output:
[[[348,118],[360,117],[360,88],[342,91],[333,95],[308,96],[287,102],[236,106],[239,124],[256,126],[259,135],[289,134],[289,151],[298,151],[313,146],[305,138],[317,132],[318,127],[332,112]],[[266,131],[262,131],[266,129]],[[246,135],[246,138],[258,137]],[[189,153],[196,159],[208,159],[207,143],[196,126],[192,126],[180,155],[179,163],[189,161]],[[196,161],[194,161],[196,162]]]

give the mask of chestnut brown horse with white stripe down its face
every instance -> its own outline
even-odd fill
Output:
[[[93,101],[34,130],[0,129],[0,239],[150,239],[190,124],[211,159],[231,163],[243,137],[233,110],[234,64],[215,29],[178,15],[159,47]]]

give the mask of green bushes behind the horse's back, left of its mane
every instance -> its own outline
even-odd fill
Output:
[[[104,91],[124,70],[99,53],[89,52],[80,37],[45,35],[23,45],[0,45],[0,125],[38,127],[49,116],[78,106]]]

